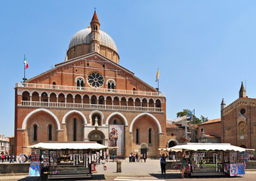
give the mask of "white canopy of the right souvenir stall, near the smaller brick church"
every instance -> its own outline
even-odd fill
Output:
[[[221,151],[236,151],[236,152],[245,152],[246,149],[239,146],[232,146],[230,143],[186,143],[173,146],[168,149],[159,149],[167,150],[168,152],[182,152],[182,150],[192,150],[192,151],[201,151],[201,150],[221,150]]]

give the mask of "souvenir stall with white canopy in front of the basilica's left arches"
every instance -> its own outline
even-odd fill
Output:
[[[29,146],[40,149],[44,179],[91,177],[94,164],[106,158],[106,148],[94,142],[42,142]]]

